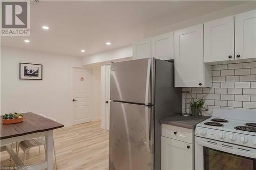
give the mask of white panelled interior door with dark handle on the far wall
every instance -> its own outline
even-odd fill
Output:
[[[86,68],[73,68],[74,125],[91,120],[92,71]]]

